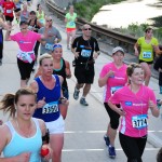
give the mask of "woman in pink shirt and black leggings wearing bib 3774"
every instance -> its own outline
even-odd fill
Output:
[[[148,134],[148,110],[159,117],[157,100],[152,90],[143,85],[144,70],[138,64],[130,64],[126,73],[130,84],[118,90],[108,105],[122,116],[119,130],[121,147],[127,162],[141,162]],[[121,108],[116,105],[120,104]]]

